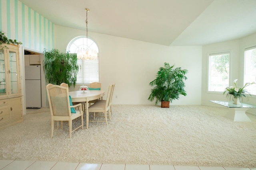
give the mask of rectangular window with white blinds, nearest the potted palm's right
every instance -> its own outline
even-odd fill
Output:
[[[208,57],[208,91],[223,92],[229,85],[230,53],[215,53]]]

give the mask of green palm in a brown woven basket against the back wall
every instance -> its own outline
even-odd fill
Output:
[[[184,90],[187,73],[186,69],[174,68],[174,65],[164,63],[164,67],[159,68],[156,79],[149,83],[150,86],[155,87],[151,89],[148,100],[153,102],[156,99],[156,104],[161,102],[161,107],[169,108],[170,102],[179,99],[180,95],[187,95]]]

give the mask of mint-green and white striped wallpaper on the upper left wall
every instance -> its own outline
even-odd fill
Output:
[[[28,49],[54,48],[54,24],[18,0],[0,0],[0,30]]]

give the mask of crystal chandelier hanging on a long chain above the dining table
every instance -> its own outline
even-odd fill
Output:
[[[91,50],[88,46],[88,19],[87,13],[90,11],[88,8],[86,10],[86,48],[78,48],[76,51],[78,60],[98,60],[98,52],[96,50]]]

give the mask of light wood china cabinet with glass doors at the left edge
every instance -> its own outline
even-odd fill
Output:
[[[0,129],[22,122],[19,45],[0,45]]]

